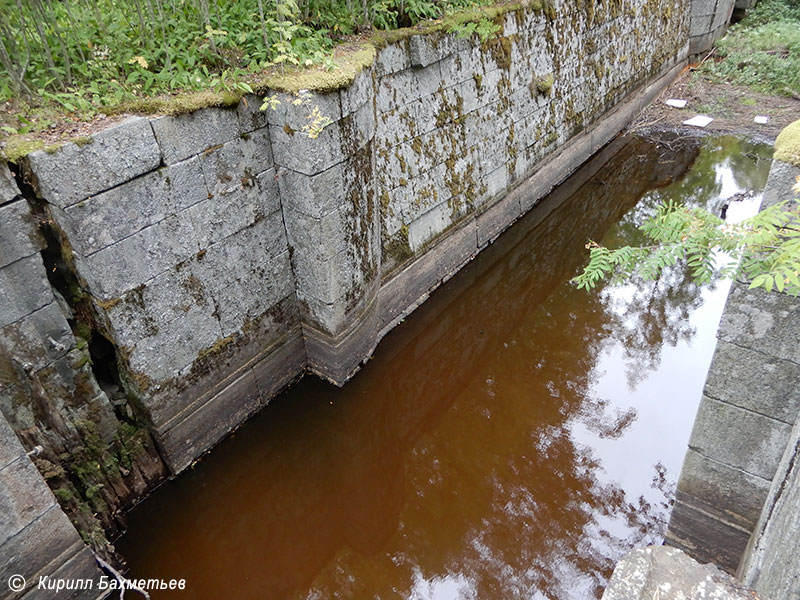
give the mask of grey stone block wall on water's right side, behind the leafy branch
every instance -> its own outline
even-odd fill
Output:
[[[763,205],[791,198],[798,175],[773,161]],[[747,288],[731,288],[667,532],[671,545],[729,572],[771,487],[784,485],[776,471],[800,414],[800,301]],[[773,551],[783,542],[770,542]]]

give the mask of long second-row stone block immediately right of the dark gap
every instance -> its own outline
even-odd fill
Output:
[[[73,249],[89,256],[208,197],[198,157],[158,169],[66,211],[53,210]]]

